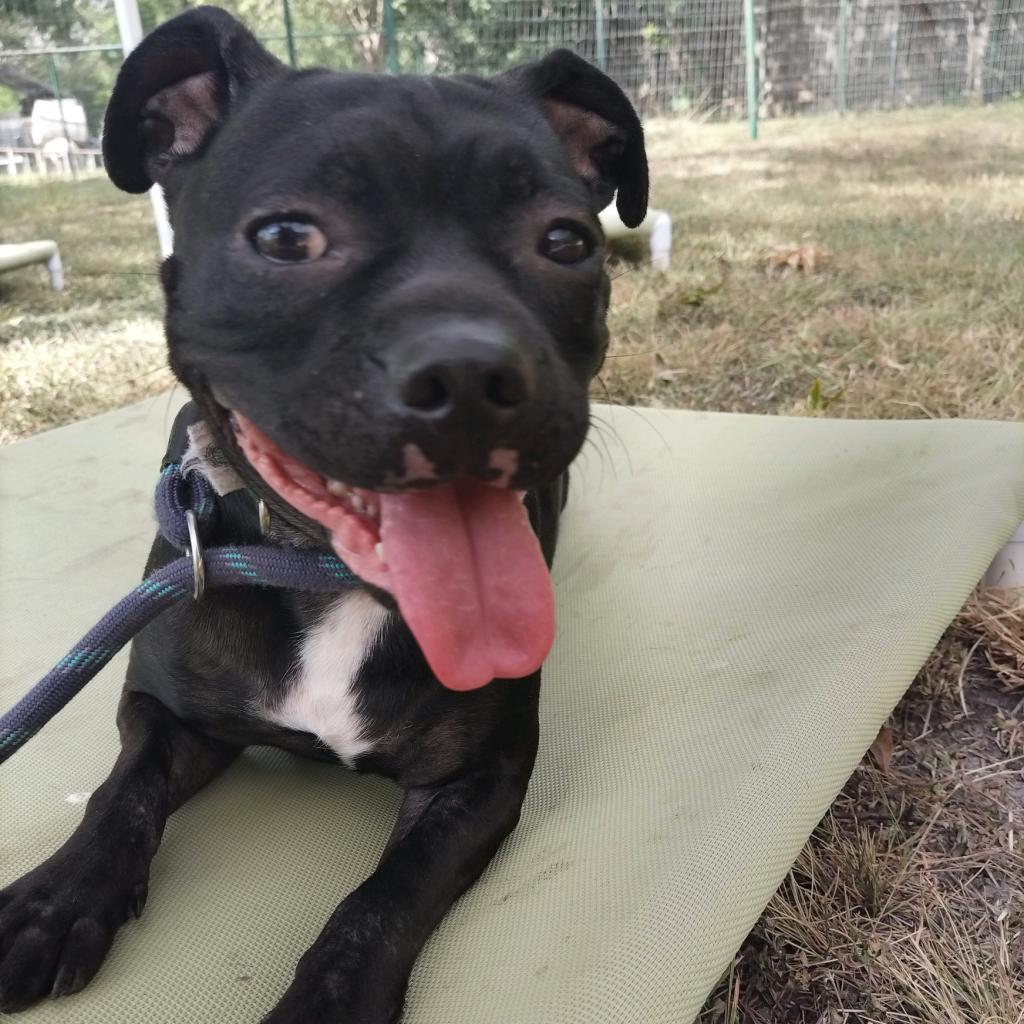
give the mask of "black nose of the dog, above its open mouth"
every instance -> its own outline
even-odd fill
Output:
[[[393,346],[388,367],[404,411],[431,420],[495,423],[529,398],[531,358],[501,325],[445,318]]]

